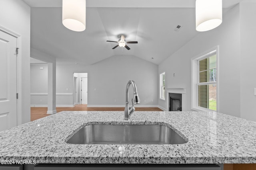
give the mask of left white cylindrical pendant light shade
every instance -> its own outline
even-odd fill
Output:
[[[62,0],[62,23],[72,31],[84,31],[86,0]]]

